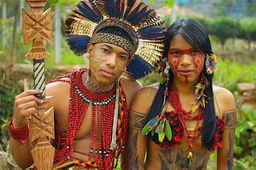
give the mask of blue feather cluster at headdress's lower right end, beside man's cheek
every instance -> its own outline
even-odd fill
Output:
[[[127,65],[126,70],[133,73],[131,76],[134,79],[139,79],[150,74],[155,68],[142,57],[134,55],[134,59]]]

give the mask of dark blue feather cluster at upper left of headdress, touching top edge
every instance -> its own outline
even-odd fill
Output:
[[[89,3],[89,4],[87,4]],[[91,1],[81,1],[79,4],[76,5],[77,10],[76,12],[82,14],[86,18],[90,19],[93,22],[100,23],[102,21],[103,16],[100,11],[96,8],[95,4]]]

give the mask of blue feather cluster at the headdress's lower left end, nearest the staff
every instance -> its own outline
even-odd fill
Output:
[[[70,46],[70,50],[74,51],[77,56],[81,56],[87,52],[87,45],[90,37],[85,35],[66,35],[66,42]]]

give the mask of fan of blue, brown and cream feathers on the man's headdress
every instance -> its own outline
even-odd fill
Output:
[[[113,26],[118,24],[131,35],[132,59],[126,71],[132,73],[134,79],[145,77],[157,69],[164,51],[166,29],[156,11],[140,0],[80,1],[65,21],[65,35],[70,49],[77,56],[82,56],[97,30],[107,22],[113,23]]]

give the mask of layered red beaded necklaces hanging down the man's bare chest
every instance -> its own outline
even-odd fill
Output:
[[[114,158],[118,159],[119,155],[124,151],[124,145],[127,134],[128,111],[126,104],[126,97],[119,83],[119,88],[114,85],[110,91],[103,94],[95,94],[86,89],[82,83],[82,74],[86,69],[81,69],[78,72],[67,74],[63,77],[70,77],[70,102],[69,102],[69,118],[68,118],[68,132],[66,138],[58,137],[57,148],[54,162],[60,161],[58,167],[65,161],[73,160],[73,141],[75,134],[80,130],[84,121],[85,114],[89,104],[92,104],[92,142],[89,160],[92,158],[92,153],[96,153],[96,164],[98,169],[113,169]],[[60,78],[63,78],[60,77]],[[60,79],[57,79],[60,80]],[[55,82],[57,80],[50,81]],[[114,119],[114,110],[116,102],[116,89],[119,89],[119,112],[117,124],[117,148],[111,148],[112,126]],[[96,117],[98,118],[98,127],[96,127]],[[96,139],[96,128],[98,128],[98,141]],[[117,153],[116,153],[117,152]],[[117,156],[116,156],[117,155]],[[64,159],[63,159],[64,158]]]

